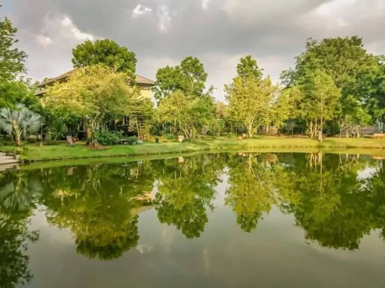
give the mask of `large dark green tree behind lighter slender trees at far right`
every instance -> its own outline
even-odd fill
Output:
[[[361,114],[359,110],[367,110],[369,103],[372,103],[369,112],[374,118],[382,116],[381,110],[375,108],[376,95],[383,93],[380,92],[382,80],[379,59],[366,52],[362,38],[357,36],[326,38],[322,41],[310,38],[306,41],[306,50],[295,58],[295,66],[283,71],[281,78],[286,87],[293,87],[311,71],[319,69],[328,74],[341,92],[341,110],[337,119],[341,132],[341,126],[346,126],[345,120],[358,121],[354,115]]]

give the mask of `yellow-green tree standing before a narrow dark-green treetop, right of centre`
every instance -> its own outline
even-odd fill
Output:
[[[232,84],[225,85],[230,118],[244,124],[249,136],[252,136],[256,127],[268,122],[269,105],[277,90],[270,78],[234,78]]]

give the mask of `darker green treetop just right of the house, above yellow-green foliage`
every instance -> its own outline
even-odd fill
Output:
[[[160,100],[178,90],[186,96],[199,97],[206,88],[207,76],[203,63],[192,56],[184,58],[180,65],[159,68],[156,72],[155,98]]]

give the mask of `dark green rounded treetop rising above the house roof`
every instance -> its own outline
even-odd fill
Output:
[[[116,72],[127,73],[131,79],[135,78],[135,53],[113,40],[87,40],[72,49],[72,55],[75,68],[102,63],[115,68]]]

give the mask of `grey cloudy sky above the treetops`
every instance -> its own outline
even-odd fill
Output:
[[[385,0],[1,0],[1,16],[19,28],[29,76],[40,80],[71,69],[71,49],[110,38],[135,51],[137,73],[199,57],[224,99],[241,56],[252,54],[265,74],[281,70],[306,38],[362,36],[366,49],[385,53]]]

